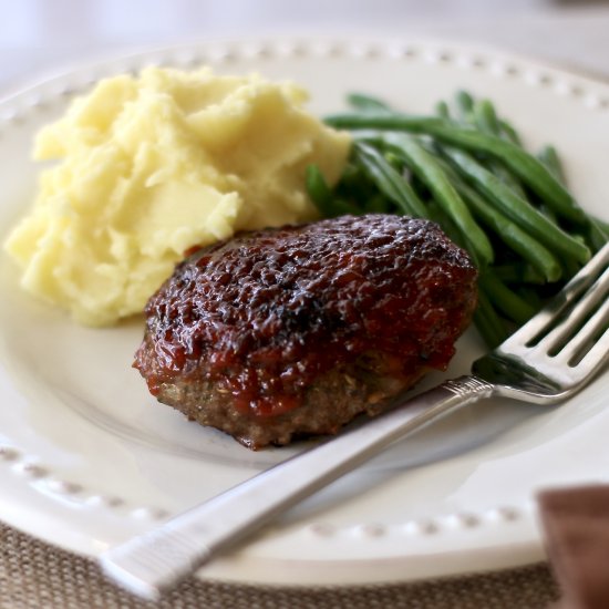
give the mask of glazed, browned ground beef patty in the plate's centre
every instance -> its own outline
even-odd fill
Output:
[[[427,220],[344,216],[196,251],[146,307],[158,401],[250,448],[333,434],[444,369],[476,269]]]

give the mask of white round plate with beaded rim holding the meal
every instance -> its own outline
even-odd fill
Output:
[[[34,132],[104,75],[162,63],[293,79],[314,112],[367,91],[412,112],[466,87],[497,102],[535,147],[555,143],[581,204],[607,218],[609,86],[485,50],[411,42],[214,42],[80,69],[0,104],[2,239],[33,196]],[[0,262],[0,518],[96,555],[301,446],[258,454],[155,403],[131,368],[140,321],[72,324]],[[450,374],[479,351],[460,345]],[[427,381],[436,382],[438,376]],[[543,557],[535,494],[607,479],[607,375],[560,409],[487,401],[445,420],[306,502],[204,577],[281,584],[407,580]]]

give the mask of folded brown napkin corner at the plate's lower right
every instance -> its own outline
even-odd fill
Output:
[[[560,609],[609,608],[609,485],[538,496],[546,549],[562,590]]]

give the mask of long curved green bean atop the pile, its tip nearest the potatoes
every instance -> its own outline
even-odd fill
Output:
[[[587,224],[587,217],[569,192],[548,169],[519,146],[494,135],[455,126],[448,121],[405,114],[341,114],[327,117],[328,124],[351,130],[390,130],[425,133],[461,148],[487,153],[505,163],[544,202],[567,219]]]

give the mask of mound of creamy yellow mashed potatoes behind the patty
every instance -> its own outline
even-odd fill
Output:
[[[40,132],[30,216],[6,248],[22,286],[104,326],[142,311],[184,252],[236,230],[310,220],[304,168],[338,179],[350,140],[259,76],[148,68],[101,81]]]

